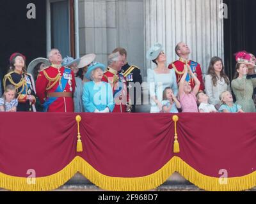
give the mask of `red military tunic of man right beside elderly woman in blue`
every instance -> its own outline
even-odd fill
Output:
[[[127,82],[124,75],[122,75],[122,73],[118,73],[115,69],[108,67],[107,71],[104,73],[102,81],[109,83],[112,87],[115,101],[115,108],[113,112],[126,112],[126,105],[129,101],[129,96],[127,94]]]

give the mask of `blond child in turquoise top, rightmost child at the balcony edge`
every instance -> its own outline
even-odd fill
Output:
[[[233,103],[232,94],[229,91],[224,91],[220,95],[222,105],[220,106],[219,112],[223,113],[244,113],[241,109],[241,105]]]

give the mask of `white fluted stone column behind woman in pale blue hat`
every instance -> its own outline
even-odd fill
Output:
[[[188,43],[190,58],[207,73],[211,57],[223,58],[222,0],[147,0],[145,8],[145,52],[159,42],[167,55],[167,65],[178,59],[175,45]],[[147,68],[154,65],[145,59]]]

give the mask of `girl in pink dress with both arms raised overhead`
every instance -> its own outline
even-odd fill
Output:
[[[193,78],[195,82],[195,87],[192,90],[191,86],[189,85],[189,82],[186,81],[186,77],[188,75]],[[200,89],[200,81],[198,78],[195,76],[193,71],[191,71],[190,66],[187,66],[184,68],[184,75],[180,79],[179,83],[179,99],[180,99],[180,104],[182,108],[182,112],[190,112],[190,113],[198,113],[198,108],[196,104],[196,94],[198,93]]]

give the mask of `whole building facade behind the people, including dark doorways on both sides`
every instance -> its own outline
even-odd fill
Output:
[[[52,47],[63,57],[93,52],[104,64],[115,47],[124,47],[144,80],[154,68],[145,54],[156,42],[169,64],[178,58],[175,45],[185,41],[204,74],[212,56],[223,57],[230,79],[234,53],[256,52],[254,0],[2,0],[0,6],[0,78],[13,52],[26,55],[29,64]]]

